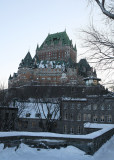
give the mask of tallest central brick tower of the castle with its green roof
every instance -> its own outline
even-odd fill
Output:
[[[48,34],[40,48],[37,46],[36,55],[39,60],[68,61],[71,58],[73,62],[77,62],[76,45],[73,46],[72,40],[69,39],[66,31]]]

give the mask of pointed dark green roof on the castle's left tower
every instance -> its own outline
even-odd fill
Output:
[[[32,60],[30,52],[28,52],[25,58],[22,59],[19,67],[32,67],[32,64],[33,64],[33,60]]]

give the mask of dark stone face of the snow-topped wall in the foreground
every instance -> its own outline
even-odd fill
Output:
[[[68,145],[73,145],[85,151],[87,154],[93,155],[107,140],[114,135],[114,129],[94,138],[94,139],[77,139],[77,138],[62,138],[62,137],[34,137],[34,136],[12,136],[0,137],[0,143],[5,147],[16,147],[18,149],[21,143],[27,144],[30,147],[40,148],[60,148]],[[50,141],[46,141],[46,139]],[[53,140],[53,141],[51,141]],[[54,142],[54,140],[56,140]]]

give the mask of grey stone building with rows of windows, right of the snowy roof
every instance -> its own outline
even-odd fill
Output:
[[[114,96],[89,95],[62,100],[62,133],[84,134],[84,123],[114,124]]]

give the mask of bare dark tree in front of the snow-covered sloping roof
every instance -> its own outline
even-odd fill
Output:
[[[57,125],[60,118],[60,100],[39,99],[36,101],[37,114],[40,122],[39,126],[43,131],[51,132]]]

